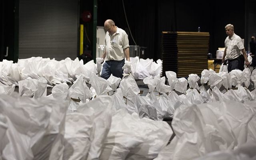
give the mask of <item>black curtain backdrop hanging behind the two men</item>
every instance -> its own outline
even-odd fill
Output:
[[[160,58],[162,31],[210,32],[209,52],[213,57],[224,47],[226,24],[247,43],[245,0],[225,4],[221,0],[123,0],[132,36],[138,46],[147,47],[145,58]],[[249,0],[255,1],[255,0]],[[254,11],[255,14],[256,11]],[[98,26],[112,19],[124,29],[130,45],[135,45],[128,31],[122,0],[98,0]],[[247,50],[247,45],[245,48]]]

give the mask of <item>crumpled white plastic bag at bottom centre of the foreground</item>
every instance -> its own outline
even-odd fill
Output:
[[[166,122],[119,110],[104,142],[100,160],[152,160],[166,146],[172,130]]]

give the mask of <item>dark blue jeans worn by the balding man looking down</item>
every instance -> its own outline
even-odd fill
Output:
[[[124,66],[124,59],[123,60],[108,60],[102,66],[101,77],[104,79],[108,79],[111,74],[118,78],[123,78],[122,67]]]

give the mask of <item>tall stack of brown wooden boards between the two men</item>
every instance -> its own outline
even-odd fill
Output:
[[[209,32],[162,32],[162,75],[176,72],[177,77],[201,75],[208,68]]]

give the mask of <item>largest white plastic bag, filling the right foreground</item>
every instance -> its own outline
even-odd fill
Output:
[[[182,105],[172,120],[176,136],[156,160],[190,160],[235,149],[247,142],[253,116],[251,108],[235,101]]]

